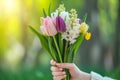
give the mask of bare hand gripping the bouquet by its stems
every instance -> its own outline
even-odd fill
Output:
[[[54,80],[62,80],[66,77],[64,68],[69,69],[71,80],[90,80],[91,76],[88,73],[82,72],[74,63],[56,63],[51,60],[51,71]]]

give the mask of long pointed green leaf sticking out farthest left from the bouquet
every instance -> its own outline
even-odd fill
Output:
[[[47,37],[40,34],[32,26],[29,26],[29,28],[38,36],[38,38],[40,39],[42,47],[50,53],[50,50],[49,50],[49,47],[48,47],[48,39],[47,39]]]

